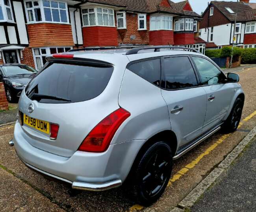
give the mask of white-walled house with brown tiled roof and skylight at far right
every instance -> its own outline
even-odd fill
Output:
[[[207,49],[232,45],[233,38],[236,46],[256,48],[256,3],[211,1],[202,18],[199,37]]]

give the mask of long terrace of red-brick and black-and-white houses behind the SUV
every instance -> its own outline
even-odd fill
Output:
[[[72,48],[171,45],[195,48],[201,16],[189,1],[0,0],[0,64],[40,69]]]

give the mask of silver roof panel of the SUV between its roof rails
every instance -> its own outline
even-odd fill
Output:
[[[124,62],[124,59],[132,62],[135,60],[141,60],[151,57],[161,57],[161,56],[173,56],[173,55],[201,55],[200,53],[191,52],[191,51],[181,51],[181,50],[170,50],[170,49],[161,49],[160,51],[154,51],[154,49],[143,49],[136,54],[126,55],[130,49],[104,49],[104,50],[81,50],[81,51],[72,51],[70,53],[74,54],[74,57],[77,58],[88,58],[101,60],[109,62],[111,64],[116,64],[118,62]],[[128,62],[129,62],[128,61]]]

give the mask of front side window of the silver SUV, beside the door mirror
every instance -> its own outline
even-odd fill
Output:
[[[202,57],[192,57],[204,85],[214,85],[222,83],[226,79],[225,75],[209,60]]]

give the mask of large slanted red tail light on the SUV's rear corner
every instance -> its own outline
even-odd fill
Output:
[[[131,114],[123,108],[119,108],[109,114],[93,128],[83,140],[78,150],[84,152],[106,151],[119,126],[121,126],[130,115]]]

